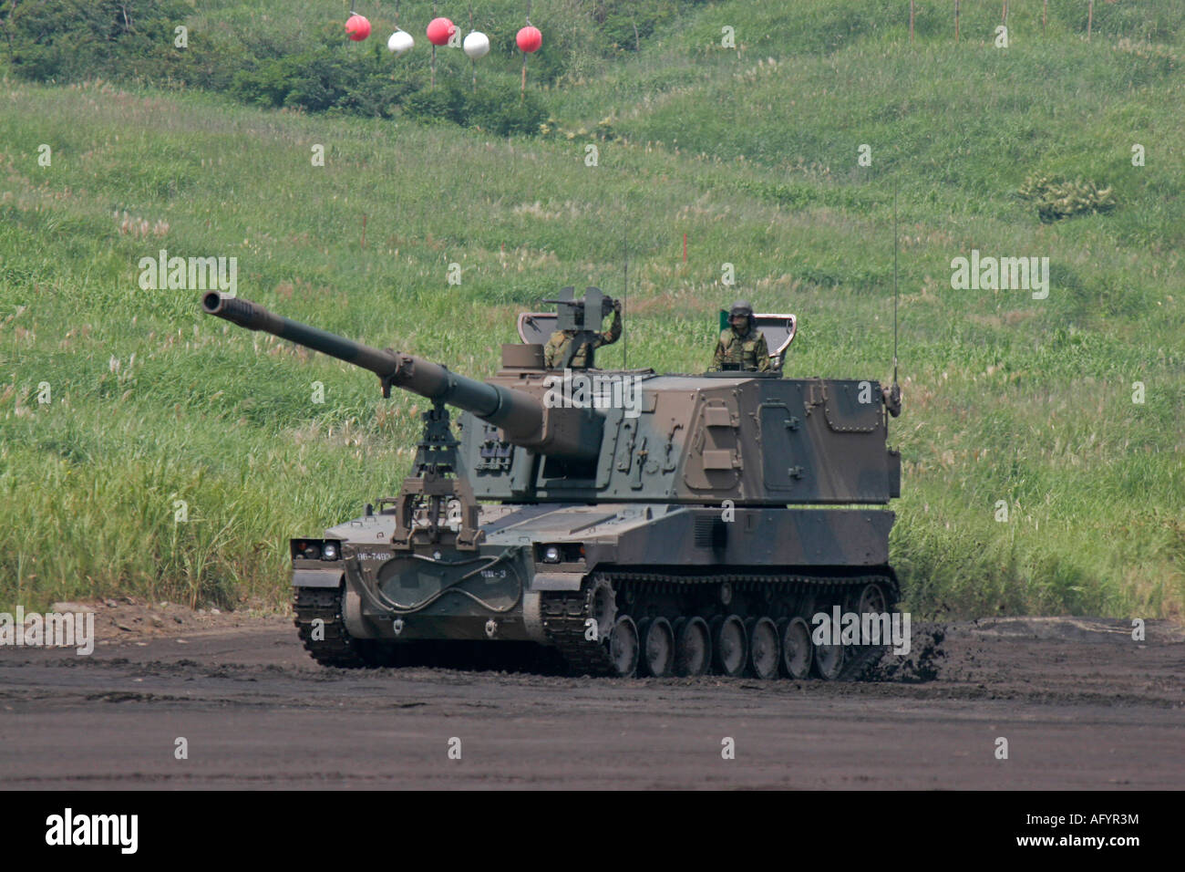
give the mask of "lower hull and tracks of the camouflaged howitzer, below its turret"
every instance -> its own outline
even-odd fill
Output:
[[[812,645],[811,617],[893,606],[892,513],[723,514],[670,503],[486,505],[483,541],[469,554],[396,553],[393,513],[367,515],[324,540],[294,540],[296,623],[309,654],[335,667],[482,666],[487,654],[506,666],[506,651],[482,650],[506,642],[552,648],[576,673],[597,675],[806,677],[813,664],[835,679],[879,658],[876,645]],[[326,542],[340,556],[302,556]],[[455,641],[481,644],[449,657]]]

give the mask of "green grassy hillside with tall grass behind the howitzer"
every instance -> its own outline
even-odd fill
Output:
[[[246,4],[198,6],[194,21],[271,27]],[[537,6],[546,36],[568,7]],[[204,318],[196,291],[141,289],[141,257],[235,256],[248,299],[481,377],[534,300],[620,293],[624,240],[627,340],[600,365],[699,371],[717,308],[747,297],[800,316],[789,374],[888,378],[896,186],[908,605],[1180,617],[1185,9],[1096,4],[1088,43],[1084,2],[1051,2],[1045,37],[1040,4],[1013,2],[995,49],[998,5],[963,4],[959,44],[948,4],[917,6],[911,46],[908,2],[687,5],[542,93],[571,139],[6,76],[0,610],[116,592],[281,605],[287,536],[406,475],[417,397]],[[340,17],[305,7],[269,14],[297,36]],[[591,25],[570,18],[578,45]],[[609,138],[579,133],[604,119]],[[1042,223],[1017,193],[1038,173],[1119,205]],[[972,249],[1048,256],[1049,298],[952,289]]]

